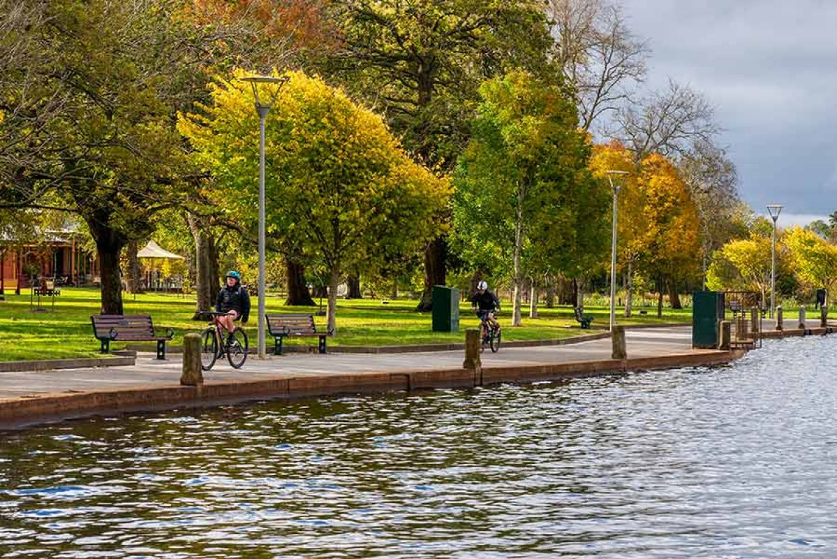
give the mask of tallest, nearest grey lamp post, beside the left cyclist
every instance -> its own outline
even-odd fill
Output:
[[[264,291],[266,287],[266,282],[264,281],[264,121],[286,79],[272,75],[251,75],[242,78],[242,80],[249,82],[253,88],[256,112],[259,113],[259,314],[257,322],[259,329],[259,359],[264,359],[267,356],[264,348]],[[272,92],[268,89],[270,85],[274,85]],[[259,96],[259,90],[262,88],[265,89],[264,93],[266,96]]]

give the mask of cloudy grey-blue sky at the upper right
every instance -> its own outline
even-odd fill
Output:
[[[738,191],[778,225],[837,210],[837,2],[622,0],[651,49],[645,87],[701,91],[724,128]]]

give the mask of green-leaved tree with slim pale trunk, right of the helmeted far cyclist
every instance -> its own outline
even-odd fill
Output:
[[[525,276],[536,265],[570,267],[584,252],[579,240],[601,239],[607,192],[589,172],[590,146],[561,87],[515,71],[480,95],[455,175],[455,235],[466,258],[511,271],[518,326]]]

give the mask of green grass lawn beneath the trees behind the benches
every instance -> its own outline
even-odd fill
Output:
[[[27,290],[28,291],[28,290]],[[285,307],[284,299],[268,296],[269,313],[295,312],[316,313],[317,308]],[[43,308],[51,310],[49,298],[42,298]],[[461,342],[465,338],[466,328],[475,328],[479,320],[470,311],[470,304],[463,303],[460,308],[460,331],[454,333],[433,332],[430,329],[430,313],[413,311],[418,302],[415,300],[397,300],[383,304],[378,299],[353,299],[337,303],[337,335],[329,340],[336,345],[402,345],[402,344],[441,344]],[[523,318],[523,326],[508,326],[511,304],[506,304],[501,313],[503,339],[563,339],[583,334],[578,323],[573,319],[573,309],[569,307],[544,308],[538,310],[539,318]],[[253,299],[255,311],[256,300]],[[93,337],[90,326],[90,314],[99,312],[100,294],[95,288],[62,288],[61,295],[55,298],[54,312],[33,313],[30,310],[29,295],[6,295],[6,301],[0,301],[0,361],[59,359],[64,357],[89,357],[98,355],[99,341]],[[152,293],[144,295],[125,294],[126,313],[150,313],[157,328],[172,328],[175,331],[173,345],[180,345],[183,334],[198,332],[206,323],[195,322],[191,318],[195,309],[193,297],[182,295]],[[608,308],[585,307],[586,313],[593,313],[593,331],[602,329],[608,323]],[[691,320],[691,308],[673,311],[665,308],[663,318],[655,316],[655,309],[640,315],[639,309],[633,318],[619,319],[619,323],[659,323],[688,322]],[[653,316],[652,316],[653,315]],[[316,317],[317,326],[325,327],[325,317]],[[255,343],[255,323],[247,325],[251,346]],[[294,340],[295,341],[295,340]],[[289,344],[294,343],[291,341]],[[316,339],[306,340],[316,344]],[[112,349],[123,347],[113,344]],[[268,339],[269,349],[273,339]],[[153,349],[153,344],[148,348]]]

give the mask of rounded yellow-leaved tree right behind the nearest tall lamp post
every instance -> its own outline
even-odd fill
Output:
[[[287,77],[267,122],[268,231],[326,269],[333,330],[343,275],[413,254],[438,234],[433,218],[449,187],[407,157],[379,116],[318,78]],[[180,130],[198,164],[224,185],[216,195],[229,202],[231,219],[252,223],[259,160],[253,95],[240,80],[219,80],[212,96],[201,114],[181,118]]]

